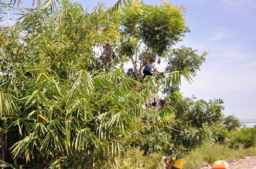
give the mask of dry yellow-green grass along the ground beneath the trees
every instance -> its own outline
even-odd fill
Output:
[[[205,145],[201,148],[197,148],[189,155],[184,157],[184,169],[198,169],[204,162],[210,164],[218,160],[236,160],[244,158],[246,155],[255,156],[256,147],[249,149],[233,150],[224,145]],[[155,169],[163,168],[162,162],[163,154],[161,152],[152,153],[147,156],[143,156],[143,152],[139,150],[131,149],[127,151],[122,157],[116,158],[117,164],[112,168],[131,168],[131,169]],[[169,159],[169,157],[168,157]]]

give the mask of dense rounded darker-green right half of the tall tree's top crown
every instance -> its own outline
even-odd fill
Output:
[[[138,34],[157,54],[181,41],[184,33],[189,31],[185,24],[183,6],[174,6],[166,2],[160,7],[146,6],[143,11]]]

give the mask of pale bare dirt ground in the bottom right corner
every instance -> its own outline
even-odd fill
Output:
[[[228,161],[229,169],[256,169],[256,156],[246,156],[244,159]],[[200,169],[212,169],[207,162]]]

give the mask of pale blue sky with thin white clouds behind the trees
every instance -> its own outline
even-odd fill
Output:
[[[73,0],[90,9],[99,2],[110,7],[117,0]],[[9,2],[4,0],[3,2]],[[24,3],[32,0],[23,1]],[[256,0],[176,0],[187,7],[185,14],[190,33],[180,45],[209,52],[201,71],[191,85],[183,80],[183,96],[197,99],[223,99],[224,114],[240,120],[256,119]],[[144,0],[158,5],[160,0]],[[24,4],[26,6],[26,4]],[[31,4],[31,3],[30,3]],[[256,120],[254,120],[256,121]],[[247,126],[256,123],[246,124]]]

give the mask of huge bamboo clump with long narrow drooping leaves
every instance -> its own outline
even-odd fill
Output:
[[[69,1],[38,1],[32,9],[14,1],[20,18],[1,25],[0,32],[1,166],[99,168],[143,140],[142,105],[157,92],[157,81],[128,79],[123,69],[103,71],[94,53],[124,37],[118,22],[122,2],[130,1],[88,11]],[[175,35],[169,37],[174,42]],[[179,74],[172,75],[175,86]]]

